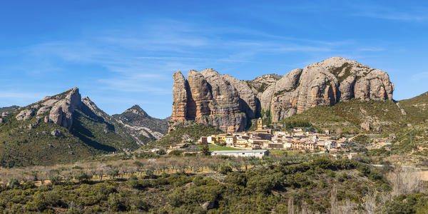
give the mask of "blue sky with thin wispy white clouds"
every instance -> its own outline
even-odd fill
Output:
[[[109,114],[170,116],[172,75],[250,80],[332,56],[428,91],[428,1],[1,1],[0,106],[78,87]]]

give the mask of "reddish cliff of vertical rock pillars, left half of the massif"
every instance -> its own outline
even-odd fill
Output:
[[[197,121],[217,126],[223,131],[243,131],[247,125],[245,112],[254,115],[256,108],[255,96],[246,83],[240,83],[231,76],[220,75],[213,69],[205,69],[200,73],[192,70],[187,79],[182,77],[183,74],[179,71],[173,76],[171,126],[185,121]],[[242,98],[239,91],[243,94]],[[248,106],[248,103],[252,106]]]

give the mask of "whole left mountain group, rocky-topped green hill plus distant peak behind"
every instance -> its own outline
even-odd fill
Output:
[[[118,119],[109,116],[88,97],[81,99],[78,88],[17,111],[7,109],[9,113],[0,117],[0,166],[4,167],[67,163],[131,151],[161,138],[168,129],[166,121],[136,106]]]

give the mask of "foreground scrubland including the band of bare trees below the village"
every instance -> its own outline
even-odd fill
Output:
[[[0,184],[0,212],[426,213],[428,209],[424,184],[414,177],[319,156],[165,155],[157,156],[156,162],[137,157],[35,169],[3,170],[9,185]],[[20,183],[20,175],[50,178],[52,185]]]

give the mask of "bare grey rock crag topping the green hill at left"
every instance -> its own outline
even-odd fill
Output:
[[[78,93],[78,88],[73,88],[66,92],[64,98],[54,103],[49,113],[49,120],[69,130],[73,125],[73,112],[79,106],[81,106],[81,95]]]

